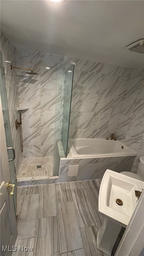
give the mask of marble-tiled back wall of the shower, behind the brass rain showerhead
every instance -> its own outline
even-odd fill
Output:
[[[53,156],[56,139],[61,139],[62,63],[63,56],[16,49],[16,65],[38,73],[17,71],[19,104],[29,107],[22,114],[24,157]]]

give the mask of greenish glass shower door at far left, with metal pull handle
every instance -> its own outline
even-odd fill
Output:
[[[6,82],[5,82],[5,76],[4,76],[4,70],[3,70],[3,57],[2,57],[1,51],[0,51],[0,96],[1,96],[1,103],[2,103],[6,144],[7,144],[7,148],[10,148],[10,147],[13,147],[13,144],[12,144],[12,136],[11,136]],[[8,159],[12,159],[12,158],[13,158],[13,151],[8,150]],[[11,176],[11,184],[15,185],[14,192],[13,192],[13,200],[14,200],[15,213],[16,213],[16,174],[15,174],[14,160],[9,162],[9,169],[10,169],[10,176]]]

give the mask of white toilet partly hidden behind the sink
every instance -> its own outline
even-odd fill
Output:
[[[141,156],[139,158],[139,163],[138,163],[138,168],[137,168],[136,174],[133,172],[120,172],[120,173],[127,175],[129,177],[132,177],[134,179],[144,181],[144,156]]]

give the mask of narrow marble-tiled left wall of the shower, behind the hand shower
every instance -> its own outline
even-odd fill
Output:
[[[2,32],[0,33],[0,49],[2,51],[3,62],[5,67],[5,80],[6,80],[11,134],[12,134],[12,144],[15,149],[16,158],[14,161],[15,161],[15,168],[16,168],[16,174],[17,174],[22,161],[19,129],[17,131],[15,129],[15,120],[16,119],[19,120],[19,114],[17,112],[19,99],[18,99],[16,69],[13,69],[13,70],[10,69],[10,64],[15,66],[15,63],[16,63],[15,48]],[[5,62],[5,60],[11,61],[11,63],[7,63]]]

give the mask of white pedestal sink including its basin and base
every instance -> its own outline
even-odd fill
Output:
[[[142,189],[143,181],[106,170],[99,191],[99,212],[105,217],[97,235],[97,248],[100,251],[111,256],[121,227],[128,225],[136,207],[138,198],[135,190]]]

